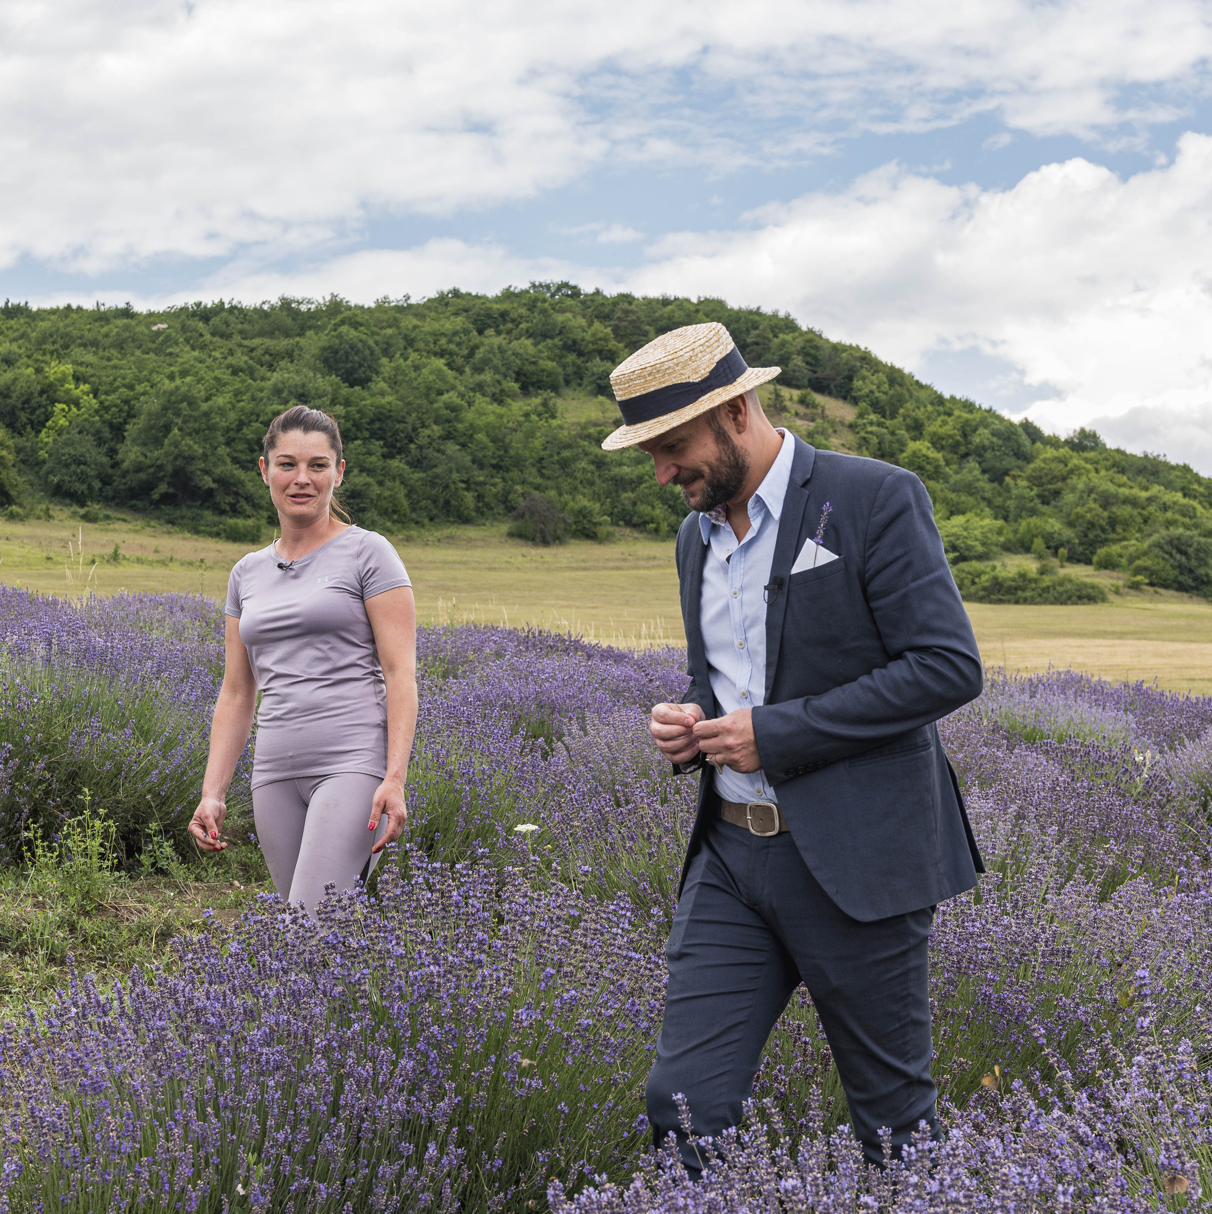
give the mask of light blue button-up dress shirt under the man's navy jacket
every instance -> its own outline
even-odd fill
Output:
[[[766,699],[766,596],[774,562],[783,499],[791,478],[795,438],[783,431],[783,447],[766,480],[749,499],[750,528],[736,539],[723,507],[699,516],[702,543],[702,643],[711,690],[721,713],[757,708]],[[747,775],[724,767],[716,792],[726,801],[776,801],[764,771]]]

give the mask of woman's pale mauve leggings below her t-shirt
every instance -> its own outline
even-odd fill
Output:
[[[257,843],[278,892],[302,902],[312,918],[330,881],[337,892],[365,880],[377,862],[370,849],[387,829],[387,816],[371,834],[370,802],[382,781],[360,772],[301,776],[252,790]],[[369,861],[369,863],[368,863]]]

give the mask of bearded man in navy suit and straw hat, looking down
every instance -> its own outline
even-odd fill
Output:
[[[603,447],[648,452],[692,509],[692,681],[649,728],[702,776],[648,1116],[662,1141],[683,1093],[696,1134],[736,1124],[803,982],[880,1163],[881,1127],[899,1153],[937,1125],[931,923],[984,869],[934,722],[979,694],[980,654],[921,481],[775,430],[755,390],[778,374],[712,323],[610,376],[625,425]]]

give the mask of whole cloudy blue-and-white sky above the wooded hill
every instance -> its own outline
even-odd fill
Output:
[[[1212,0],[2,0],[0,296],[791,312],[1212,473]]]

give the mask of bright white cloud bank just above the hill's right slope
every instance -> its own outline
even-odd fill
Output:
[[[1077,159],[1006,191],[886,166],[750,219],[665,237],[630,289],[786,308],[909,368],[975,350],[1039,387],[1026,412],[1062,432],[1212,404],[1212,137],[1127,180]]]

